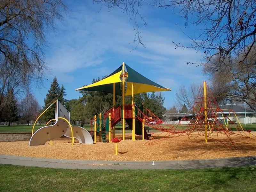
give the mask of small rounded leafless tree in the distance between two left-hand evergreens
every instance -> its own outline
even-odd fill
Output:
[[[20,101],[20,116],[28,125],[30,121],[35,119],[36,109],[39,108],[38,106],[39,104],[36,98],[29,93]]]

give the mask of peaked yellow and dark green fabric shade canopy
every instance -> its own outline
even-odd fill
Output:
[[[125,95],[132,95],[132,83],[133,83],[133,94],[139,94],[143,92],[158,92],[158,91],[171,91],[171,89],[165,88],[148,78],[142,76],[137,71],[130,68],[125,64],[127,71],[125,74],[126,77],[126,93]],[[117,68],[113,73],[107,76],[105,79],[98,81],[96,83],[86,85],[84,87],[76,89],[76,91],[100,91],[107,93],[114,93],[113,86],[115,84],[116,95],[122,95],[122,65]]]

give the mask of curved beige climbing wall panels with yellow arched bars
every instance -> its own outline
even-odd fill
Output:
[[[46,123],[46,126],[34,132],[34,128],[38,119],[47,111],[53,104],[55,105],[55,119],[51,119]],[[36,119],[33,129],[32,137],[28,146],[44,145],[47,141],[58,139],[62,136],[71,138],[71,146],[75,142],[75,138],[79,143],[93,144],[91,134],[84,128],[79,126],[72,126],[70,124],[70,112],[60,103],[55,100],[43,113]],[[48,125],[50,122],[55,121],[53,125]]]

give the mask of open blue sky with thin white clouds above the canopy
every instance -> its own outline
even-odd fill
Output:
[[[181,84],[202,83],[207,80],[200,67],[186,65],[199,62],[202,52],[193,49],[174,49],[172,41],[190,45],[189,38],[182,33],[179,25],[189,35],[197,33],[198,27],[184,28],[184,20],[170,9],[144,6],[141,13],[148,25],[141,28],[142,41],[146,48],[130,44],[135,35],[133,21],[115,9],[100,10],[92,1],[69,1],[69,13],[56,25],[55,33],[49,34],[49,48],[45,50],[47,74],[44,87],[35,92],[41,105],[47,90],[56,76],[59,84],[66,88],[66,99],[77,99],[81,94],[75,91],[84,84],[91,84],[93,78],[109,75],[125,62],[156,83],[172,89],[162,92],[164,106],[175,103],[175,90]]]

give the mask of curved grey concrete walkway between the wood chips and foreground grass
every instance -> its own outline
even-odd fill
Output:
[[[256,165],[256,156],[183,161],[84,161],[0,155],[0,164],[63,169],[204,169]]]

